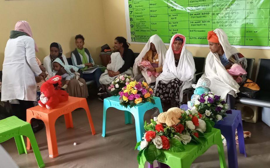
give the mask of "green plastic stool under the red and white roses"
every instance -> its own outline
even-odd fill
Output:
[[[221,133],[219,129],[212,128],[212,132],[205,133],[205,138],[207,142],[203,144],[195,144],[188,143],[184,145],[185,151],[173,153],[169,150],[164,151],[166,160],[158,160],[161,163],[167,164],[171,168],[190,168],[192,162],[202,155],[208,148],[212,145],[216,144],[218,146],[218,154],[219,154],[219,162],[221,168],[226,168],[225,155],[223,150],[223,144],[221,140]],[[201,139],[201,138],[199,138]],[[144,168],[144,164],[146,162],[145,156],[142,155],[143,158],[139,164],[139,168]]]

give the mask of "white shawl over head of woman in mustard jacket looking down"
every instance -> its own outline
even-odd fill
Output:
[[[157,54],[158,54],[158,67],[162,67],[165,61],[165,55],[166,55],[166,51],[167,48],[165,46],[165,44],[163,43],[162,39],[157,35],[153,35],[149,38],[148,42],[145,44],[145,46],[143,47],[143,50],[141,50],[141,53],[138,55],[138,57],[135,59],[135,63],[133,66],[133,74],[134,76],[137,76],[138,74],[142,73],[143,77],[145,77],[145,82],[150,84],[156,81],[156,77],[155,76],[151,76],[149,77],[147,75],[147,71],[146,69],[144,71],[140,71],[138,69],[138,64],[141,63],[141,59],[145,56],[145,54],[149,51],[150,49],[150,43],[153,43],[156,47],[157,50]]]

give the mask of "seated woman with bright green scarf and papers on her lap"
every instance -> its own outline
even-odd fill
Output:
[[[87,48],[84,48],[84,37],[81,34],[75,36],[75,44],[76,49],[71,52],[71,60],[72,64],[78,69],[85,71],[87,68],[90,68],[95,65],[95,62]],[[101,84],[99,83],[99,78],[102,72],[101,69],[96,69],[93,73],[83,74],[81,73],[81,78],[85,79],[85,81],[95,81],[98,87],[98,95],[101,97],[102,94],[106,93],[105,90],[102,89]]]

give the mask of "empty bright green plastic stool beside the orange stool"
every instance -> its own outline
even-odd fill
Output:
[[[20,120],[16,116],[0,120],[0,143],[14,137],[19,155],[27,154],[22,136],[27,136],[30,139],[38,167],[45,167],[30,123]]]

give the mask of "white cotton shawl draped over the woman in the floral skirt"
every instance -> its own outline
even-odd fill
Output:
[[[182,34],[175,34],[171,38],[171,43],[169,46],[169,50],[166,53],[165,62],[163,65],[162,73],[157,77],[156,86],[159,81],[162,81],[165,84],[168,84],[171,80],[177,78],[182,81],[182,85],[179,90],[179,100],[183,101],[183,91],[187,88],[191,88],[191,84],[193,83],[192,79],[194,77],[194,73],[196,72],[194,59],[192,57],[192,53],[185,49],[186,47],[186,39],[185,36],[183,39],[183,47],[180,55],[178,66],[175,66],[175,59],[172,49],[172,44],[174,42],[174,38],[176,35],[183,36]]]

